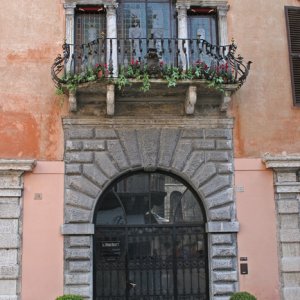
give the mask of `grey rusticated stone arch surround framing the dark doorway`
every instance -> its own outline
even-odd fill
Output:
[[[131,123],[126,129],[104,123],[65,121],[65,293],[92,299],[94,208],[108,184],[137,169],[177,174],[201,196],[208,219],[210,298],[234,292],[238,223],[230,122],[223,128],[211,122],[201,128],[182,122],[171,128]]]

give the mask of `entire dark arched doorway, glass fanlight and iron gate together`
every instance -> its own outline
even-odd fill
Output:
[[[98,201],[94,300],[208,299],[205,214],[173,175],[137,172]]]

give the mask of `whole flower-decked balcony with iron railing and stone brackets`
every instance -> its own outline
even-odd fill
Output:
[[[234,41],[216,46],[200,38],[102,37],[83,45],[65,43],[51,73],[58,91],[69,96],[74,113],[89,113],[87,107],[91,113],[97,107],[99,113],[113,116],[126,111],[128,103],[142,107],[172,102],[179,107],[174,113],[182,107],[192,115],[199,99],[226,111],[251,64],[236,50]]]

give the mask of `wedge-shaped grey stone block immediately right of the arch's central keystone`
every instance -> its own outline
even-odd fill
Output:
[[[160,149],[158,164],[169,167],[176,148],[180,131],[178,129],[162,129],[160,134]]]

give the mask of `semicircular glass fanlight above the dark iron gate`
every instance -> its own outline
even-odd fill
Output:
[[[172,224],[174,220],[203,221],[193,193],[173,177],[138,173],[110,189],[101,202],[96,224]]]

